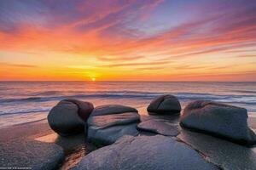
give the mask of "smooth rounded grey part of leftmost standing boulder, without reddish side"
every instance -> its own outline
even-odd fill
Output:
[[[55,105],[47,116],[49,126],[61,135],[70,135],[84,131],[84,121],[78,115],[79,107],[72,102]]]

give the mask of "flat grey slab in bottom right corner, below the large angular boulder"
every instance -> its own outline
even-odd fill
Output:
[[[247,148],[207,134],[184,129],[177,138],[195,150],[199,150],[208,161],[224,169],[256,169],[256,148]]]

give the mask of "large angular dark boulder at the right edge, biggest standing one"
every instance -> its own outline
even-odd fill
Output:
[[[256,135],[247,126],[247,110],[212,101],[195,101],[187,105],[180,125],[239,144],[255,144]]]

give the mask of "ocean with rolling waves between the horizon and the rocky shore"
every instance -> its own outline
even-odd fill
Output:
[[[183,108],[207,99],[244,107],[256,116],[256,82],[0,82],[0,127],[46,121],[61,99],[140,109],[161,94],[177,96]]]

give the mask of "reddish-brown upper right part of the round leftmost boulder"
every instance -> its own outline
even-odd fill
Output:
[[[92,105],[92,103],[90,103],[88,101],[85,102],[85,101],[81,101],[78,99],[64,99],[64,100],[62,100],[62,102],[63,101],[72,102],[73,104],[77,105],[79,107],[79,111],[78,111],[79,116],[84,121],[87,121],[88,117],[90,116],[90,113],[94,109],[94,106]]]

